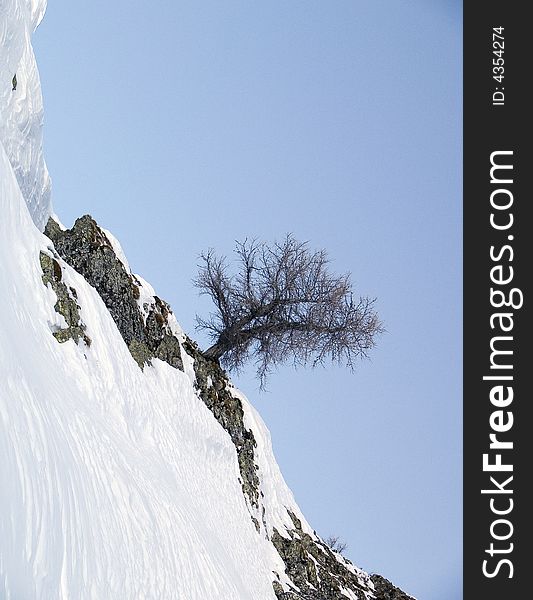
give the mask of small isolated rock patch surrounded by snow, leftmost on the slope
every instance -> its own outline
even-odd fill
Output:
[[[76,302],[76,290],[67,288],[63,283],[63,272],[60,264],[55,258],[52,258],[45,252],[39,254],[41,269],[43,270],[42,280],[44,285],[50,284],[50,287],[57,296],[57,302],[54,309],[62,315],[67,322],[67,327],[53,332],[53,336],[59,343],[73,339],[76,344],[83,340],[87,346],[91,345],[91,339],[85,333],[85,324],[80,317],[80,307]]]

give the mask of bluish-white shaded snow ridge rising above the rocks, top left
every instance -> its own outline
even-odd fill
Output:
[[[43,157],[43,100],[31,35],[46,0],[0,0],[0,141],[33,221],[42,231],[52,214]],[[17,75],[17,89],[11,81]]]

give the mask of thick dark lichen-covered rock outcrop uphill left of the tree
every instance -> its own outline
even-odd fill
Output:
[[[145,322],[137,302],[139,285],[90,215],[77,219],[66,231],[49,219],[44,233],[61,258],[96,288],[141,368],[150,364],[151,358],[160,358],[183,369],[179,342],[168,327],[169,306],[156,297],[154,306],[147,307]]]

